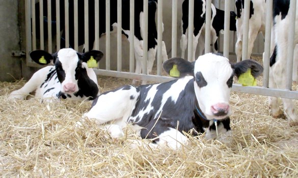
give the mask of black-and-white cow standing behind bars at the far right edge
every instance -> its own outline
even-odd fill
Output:
[[[292,21],[289,19],[288,11],[292,1],[273,1],[273,20],[275,34],[275,50],[270,57],[270,74],[269,87],[286,88],[286,64],[288,48],[288,29]],[[298,8],[298,4],[296,9]],[[298,14],[295,17],[295,34],[294,34],[294,58],[293,58],[293,80],[297,80],[298,66]],[[284,111],[290,124],[298,124],[298,114],[295,105],[290,99],[282,99]],[[274,117],[278,117],[283,112],[279,108],[278,100],[275,97],[269,97],[269,107]]]

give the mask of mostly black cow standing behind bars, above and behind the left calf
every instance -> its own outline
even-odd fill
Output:
[[[43,0],[46,5],[46,0]],[[144,37],[144,23],[143,23],[143,1],[134,1],[134,37],[129,38],[130,35],[130,26],[129,26],[129,2],[130,0],[122,0],[122,34],[124,34],[128,41],[134,40],[134,56],[136,57],[136,73],[142,72],[143,60],[143,37]],[[74,47],[74,1],[70,0],[69,2],[69,45],[71,48]],[[52,1],[52,20],[56,21],[56,2]],[[37,6],[38,7],[38,6]],[[61,47],[65,47],[65,4],[64,1],[60,1],[60,26],[62,33]],[[85,43],[85,13],[84,13],[84,0],[78,1],[78,7],[82,10],[78,10],[77,14],[77,26],[78,26],[78,45],[84,45]],[[95,41],[95,12],[94,12],[95,3],[94,0],[88,1],[88,35],[89,35],[89,49],[93,49]],[[105,1],[99,1],[99,37],[105,34]],[[157,31],[155,23],[155,12],[157,8],[157,0],[148,1],[148,65],[147,72],[151,73],[152,67],[155,61],[155,54],[157,51]],[[46,9],[45,9],[46,10]],[[46,12],[44,12],[46,14]],[[110,1],[110,21],[111,31],[115,31],[117,28],[117,0]],[[37,21],[39,23],[39,21]],[[55,25],[53,25],[55,26]],[[39,26],[37,26],[39,28]],[[39,31],[39,29],[36,29]],[[52,32],[55,32],[53,30]],[[68,46],[66,46],[68,47]],[[166,45],[162,41],[162,60],[166,61],[168,59]]]

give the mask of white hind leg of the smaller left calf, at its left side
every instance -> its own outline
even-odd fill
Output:
[[[55,70],[55,68],[52,66],[48,66],[35,72],[33,76],[30,78],[30,80],[26,82],[25,85],[21,87],[19,90],[13,91],[9,95],[8,99],[25,99],[31,92],[34,92],[46,80],[47,74],[50,70]]]

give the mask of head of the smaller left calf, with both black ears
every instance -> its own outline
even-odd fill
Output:
[[[34,62],[40,65],[47,65],[53,61],[56,67],[57,76],[61,83],[61,92],[73,94],[79,90],[78,80],[87,80],[88,69],[87,61],[93,56],[98,62],[103,53],[91,50],[85,53],[78,53],[71,48],[63,48],[58,52],[50,54],[44,50],[36,50],[30,53]]]

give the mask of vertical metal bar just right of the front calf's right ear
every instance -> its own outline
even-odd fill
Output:
[[[272,28],[272,0],[266,1],[266,26],[265,26],[265,46],[264,46],[264,72],[263,72],[263,87],[269,85],[269,63],[270,63],[270,41]]]

